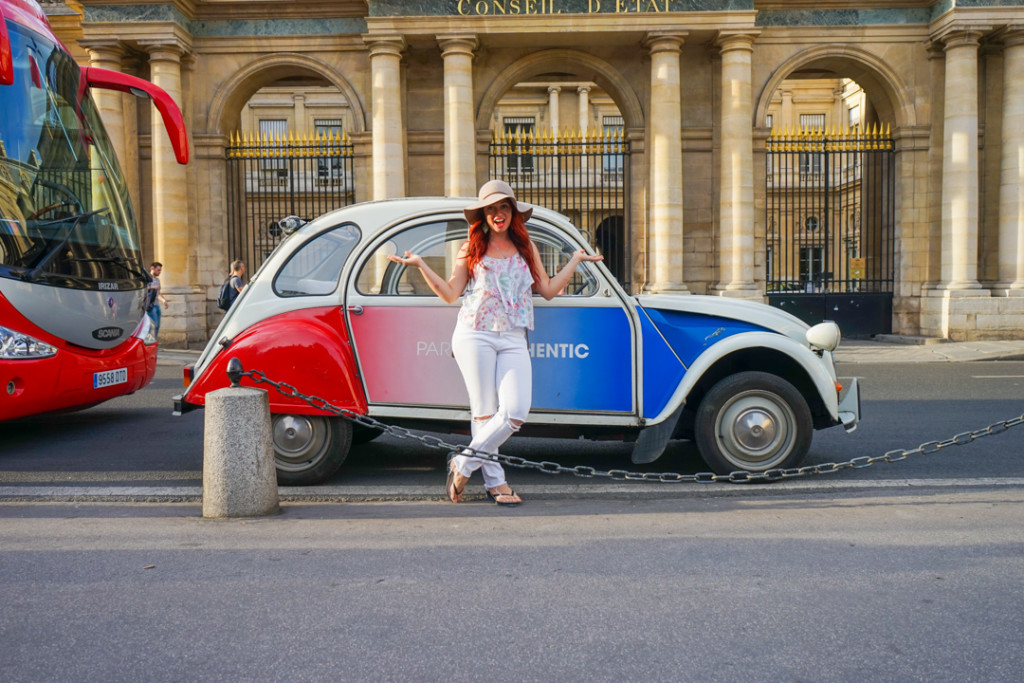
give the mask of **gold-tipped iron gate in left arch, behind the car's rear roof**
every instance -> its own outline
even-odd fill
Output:
[[[347,133],[232,134],[227,190],[227,260],[255,272],[284,238],[278,220],[311,220],[354,202],[352,143]]]

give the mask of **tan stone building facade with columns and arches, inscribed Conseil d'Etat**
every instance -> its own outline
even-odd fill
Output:
[[[230,136],[257,125],[254,95],[308,84],[337,93],[357,201],[472,196],[503,108],[554,87],[539,116],[568,120],[566,96],[593,88],[629,142],[632,288],[762,299],[768,117],[783,84],[855,83],[857,116],[895,148],[893,332],[1024,328],[1024,0],[42,4],[79,58],[148,78],[185,115],[181,168],[144,102],[97,93],[165,263],[168,345],[218,321]]]

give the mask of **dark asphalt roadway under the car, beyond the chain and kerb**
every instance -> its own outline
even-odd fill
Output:
[[[816,432],[808,464],[912,449],[1024,414],[1024,361],[845,364],[840,371],[859,377],[862,383],[860,427],[850,434],[842,428]],[[160,366],[157,379],[135,395],[80,413],[0,424],[0,487],[201,485],[203,413],[171,416],[170,397],[180,387],[180,371]],[[446,438],[457,443],[467,440],[459,435]],[[1024,477],[1022,443],[1024,426],[938,454],[821,475],[814,477],[816,482],[801,480],[800,485],[856,486],[907,480],[1013,482]],[[503,453],[599,469],[707,470],[693,445],[683,441],[674,442],[660,460],[642,467],[630,463],[630,444],[621,442],[516,437]],[[384,436],[355,446],[331,485],[319,487],[319,492],[329,496],[344,486],[349,493],[362,490],[377,500],[391,495],[424,499],[433,490],[439,496],[444,456],[416,442]],[[609,482],[536,471],[510,471],[509,478],[524,496],[561,496],[570,490],[582,495],[598,490],[664,495],[686,486],[708,488],[702,484]],[[711,488],[734,490],[737,486],[715,484]]]

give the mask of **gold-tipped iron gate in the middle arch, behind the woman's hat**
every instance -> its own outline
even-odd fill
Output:
[[[630,291],[629,152],[621,126],[561,136],[496,131],[490,177],[512,185],[521,201],[568,216]]]

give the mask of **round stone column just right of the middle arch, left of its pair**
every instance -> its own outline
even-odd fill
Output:
[[[683,284],[683,135],[679,55],[686,34],[650,34],[648,289],[686,294]]]

